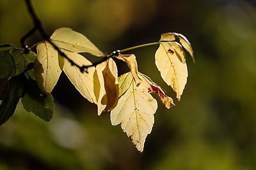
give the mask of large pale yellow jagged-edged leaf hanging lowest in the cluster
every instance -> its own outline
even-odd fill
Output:
[[[111,111],[111,124],[121,124],[138,151],[143,152],[145,139],[154,125],[156,99],[135,85],[131,72],[120,76],[118,81],[120,98]]]

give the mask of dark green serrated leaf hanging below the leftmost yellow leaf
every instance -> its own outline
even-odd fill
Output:
[[[51,94],[47,97],[43,96],[36,81],[30,79],[26,94],[21,101],[26,111],[34,113],[47,122],[51,120],[54,113],[53,97]]]

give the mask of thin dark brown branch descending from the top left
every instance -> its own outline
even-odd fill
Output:
[[[33,5],[31,3],[31,0],[25,0],[25,3],[26,3],[26,6],[28,8],[28,11],[29,11],[29,14],[31,15],[31,18],[33,20],[33,24],[34,24],[34,27],[33,29],[31,29],[26,35],[22,36],[22,38],[20,39],[20,43],[21,43],[21,46],[22,48],[25,49],[25,52],[28,53],[30,51],[30,48],[28,45],[26,45],[25,41],[26,39],[31,36],[31,34],[33,34],[36,30],[38,30],[41,34],[41,36],[49,41],[49,43],[51,43],[51,45],[58,51],[58,53],[60,53],[61,56],[65,57],[72,66],[76,66],[80,69],[80,71],[83,73],[83,72],[87,72],[87,69],[88,67],[93,67],[93,66],[97,66],[97,64],[100,64],[104,61],[106,61],[109,57],[113,57],[113,55],[116,55],[116,52],[119,53],[119,51],[115,51],[113,53],[111,53],[110,55],[106,55],[102,60],[99,60],[97,62],[94,62],[92,65],[90,66],[79,66],[77,65],[73,60],[69,59],[68,56],[63,52],[61,51],[61,49],[56,46],[50,39],[49,35],[47,34],[47,32],[45,31],[43,25],[42,25],[42,22],[40,21],[40,19],[37,17],[36,13],[35,13],[35,10],[33,8]]]

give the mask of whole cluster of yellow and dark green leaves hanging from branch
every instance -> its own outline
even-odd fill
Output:
[[[78,66],[90,67],[83,73],[47,41],[37,45],[36,53],[25,53],[10,45],[0,46],[0,99],[3,100],[0,124],[12,117],[19,99],[26,111],[45,121],[51,120],[54,112],[51,92],[64,71],[80,94],[97,105],[98,115],[102,111],[111,111],[111,124],[121,124],[138,151],[143,152],[157,110],[157,101],[150,93],[157,94],[168,109],[175,106],[173,99],[148,76],[138,71],[134,54],[122,54],[119,51],[104,55],[83,34],[69,28],[54,31],[51,42]],[[177,33],[164,33],[155,44],[159,44],[155,55],[157,69],[180,100],[188,77],[184,49],[193,57],[191,45],[188,39]],[[107,59],[94,66],[80,53]],[[131,71],[118,77],[114,58],[126,62]]]

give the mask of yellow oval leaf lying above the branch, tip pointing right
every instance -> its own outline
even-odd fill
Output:
[[[70,52],[87,52],[92,55],[102,57],[102,53],[93,43],[83,34],[73,31],[70,28],[56,29],[51,36],[52,42],[63,50]]]

